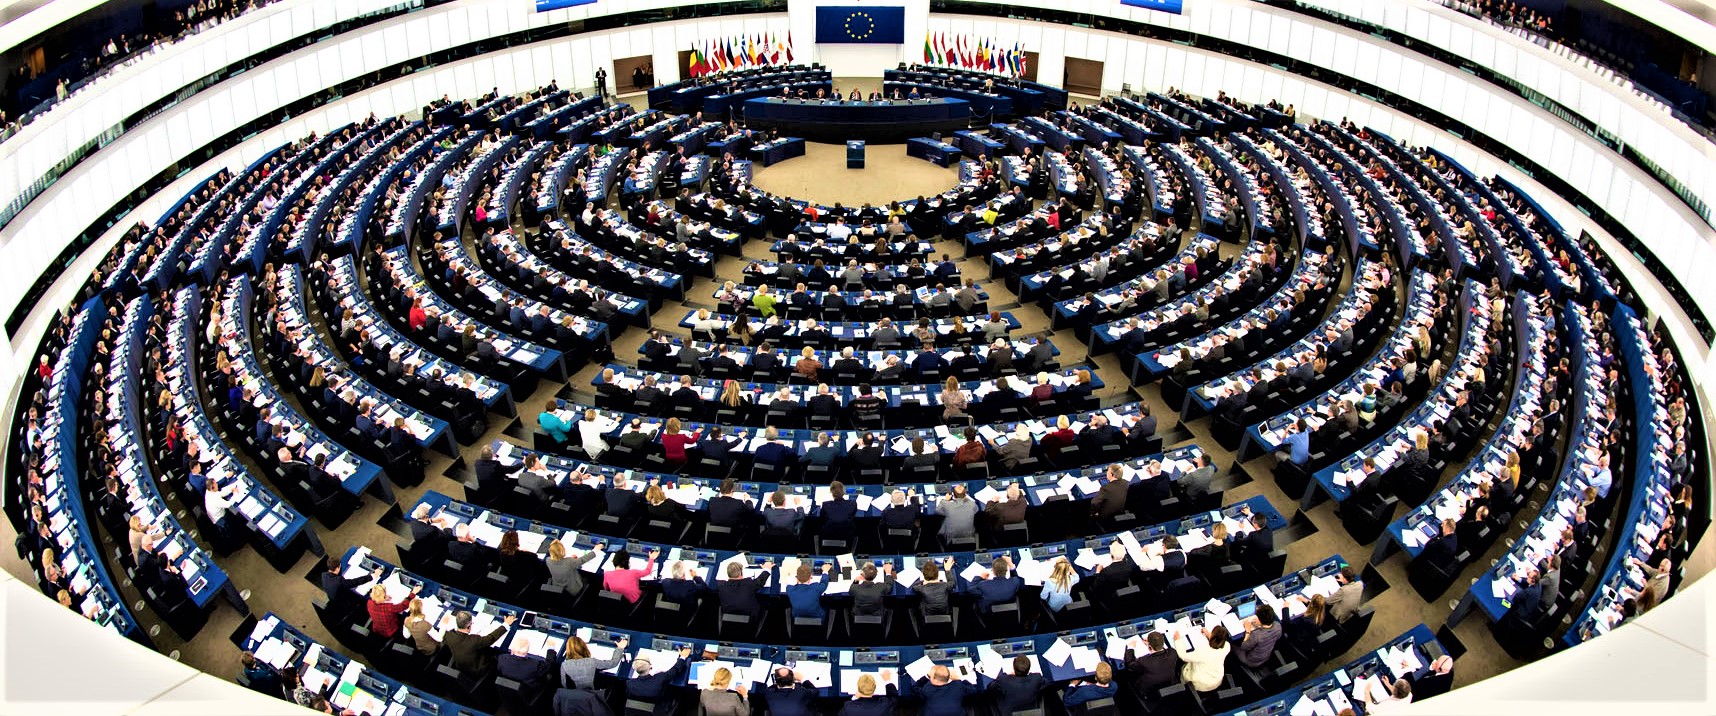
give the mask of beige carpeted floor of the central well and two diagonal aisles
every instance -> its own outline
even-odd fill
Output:
[[[873,82],[873,81],[870,81]],[[851,86],[851,81],[839,81],[843,88]],[[863,82],[860,88],[867,89]],[[937,192],[947,185],[954,184],[954,172],[951,168],[940,168],[928,161],[906,158],[903,146],[872,146],[868,156],[868,168],[865,170],[846,170],[844,168],[844,148],[831,144],[810,146],[807,156],[788,160],[781,165],[764,168],[757,173],[757,184],[782,194],[791,194],[805,199],[824,201],[824,203],[885,203],[891,199],[915,197],[916,194]],[[767,251],[767,242],[752,242],[745,247],[746,258],[772,258]],[[980,259],[966,259],[963,246],[959,242],[940,242],[939,251],[952,254],[961,261],[961,270],[968,276],[987,276],[988,271]],[[1237,251],[1227,246],[1224,251]],[[719,282],[738,278],[743,268],[743,259],[726,258],[717,264],[717,278],[714,282],[707,278],[695,280],[686,290],[686,304],[666,304],[656,316],[654,325],[661,326],[669,333],[683,333],[674,328],[680,316],[686,306],[714,307],[710,297],[712,290]],[[990,282],[985,288],[992,294],[990,306],[1009,307],[1014,316],[1018,316],[1024,326],[1019,333],[1023,335],[1047,335],[1054,343],[1064,352],[1062,362],[1071,366],[1086,359],[1085,347],[1071,335],[1071,331],[1050,331],[1047,316],[1035,306],[1014,307],[1018,299],[1007,292],[1000,282]],[[631,362],[637,357],[637,347],[644,340],[645,333],[640,330],[628,330],[614,340],[614,355],[621,362]],[[1134,390],[1129,386],[1126,373],[1121,367],[1119,359],[1114,355],[1102,355],[1091,362],[1093,369],[1100,373],[1103,381],[1109,385],[1098,393],[1105,404],[1119,404],[1131,400],[1148,400],[1153,405],[1153,412],[1162,417],[1163,434],[1172,434],[1175,426],[1174,410],[1162,402],[1160,393],[1155,386],[1143,386]],[[599,366],[589,366],[578,374],[571,376],[568,381],[573,386],[575,398],[580,402],[592,402],[594,397],[589,393],[589,381]],[[537,388],[532,397],[518,397],[523,431],[529,433],[535,426],[535,414],[539,405],[558,393],[565,385],[546,383]],[[482,443],[494,438],[511,440],[505,436],[505,429],[511,421],[491,416],[491,429],[484,436]],[[1239,501],[1251,498],[1254,495],[1263,495],[1275,505],[1284,515],[1294,515],[1297,512],[1297,496],[1287,496],[1277,489],[1273,479],[1270,477],[1272,457],[1263,457],[1244,465],[1236,465],[1232,453],[1222,450],[1213,440],[1208,438],[1206,419],[1191,421],[1184,426],[1189,438],[1181,438],[1179,443],[1187,440],[1196,440],[1211,453],[1211,458],[1225,472],[1230,472],[1230,482],[1239,482],[1229,488],[1227,501]],[[482,445],[477,443],[477,445]],[[465,462],[468,464],[475,450],[465,448]],[[414,505],[420,495],[429,489],[462,495],[460,482],[443,477],[453,460],[450,457],[431,453],[429,455],[429,477],[417,488],[398,489],[400,505]],[[1541,498],[1541,495],[1538,496]],[[1536,510],[1532,503],[1531,510]],[[393,543],[396,536],[383,527],[379,522],[388,515],[396,515],[398,507],[381,505],[376,500],[367,500],[364,508],[360,508],[350,520],[345,522],[336,531],[328,531],[316,527],[321,534],[328,553],[340,555],[347,548],[355,544],[364,544],[372,548],[381,558],[395,560]],[[1354,543],[1345,531],[1340,527],[1338,519],[1333,515],[1333,507],[1330,503],[1320,505],[1311,512],[1304,513],[1304,520],[1309,527],[1301,525],[1297,532],[1309,534],[1287,544],[1289,551],[1289,570],[1306,567],[1320,561],[1330,555],[1342,555],[1354,565],[1363,565],[1371,555],[1371,544]],[[187,520],[189,524],[189,520]],[[7,527],[9,529],[9,527]],[[1517,536],[1519,529],[1512,532]],[[1375,622],[1368,635],[1354,647],[1352,652],[1330,661],[1326,666],[1337,666],[1345,663],[1357,654],[1375,649],[1378,644],[1409,630],[1417,623],[1428,623],[1431,628],[1438,628],[1445,623],[1450,611],[1450,599],[1460,594],[1462,586],[1467,580],[1476,579],[1489,563],[1500,556],[1510,541],[1500,541],[1489,555],[1476,560],[1467,570],[1465,579],[1457,582],[1450,589],[1448,598],[1436,603],[1426,603],[1421,599],[1405,580],[1405,561],[1399,555],[1383,565],[1376,567],[1369,589],[1375,592],[1381,587],[1380,582],[1387,582],[1388,589],[1375,594],[1369,601],[1376,608]],[[305,580],[305,573],[316,568],[316,560],[305,556],[287,573],[275,572],[264,560],[251,551],[240,551],[230,558],[221,560],[227,567],[232,580],[247,591],[249,606],[256,615],[273,611],[290,623],[304,628],[312,637],[323,640],[328,646],[336,647],[336,640],[326,634],[321,622],[316,618],[311,608],[311,596],[317,591],[314,584]],[[15,573],[19,579],[31,579],[29,568],[15,560],[15,555],[0,553],[0,567]],[[136,592],[129,591],[132,599]],[[146,610],[139,610],[139,620],[144,625],[154,623],[153,615]],[[202,634],[182,644],[172,637],[172,632],[161,630],[156,637],[158,646],[163,652],[173,652],[177,658],[189,664],[194,664],[204,671],[232,677],[239,671],[239,651],[228,640],[228,635],[240,625],[240,616],[230,608],[220,608],[209,620]],[[1496,673],[1507,671],[1517,666],[1517,661],[1503,654],[1484,627],[1483,618],[1471,618],[1453,630],[1460,642],[1469,649],[1465,656],[1459,659],[1455,670],[1455,682],[1459,685],[1472,683]]]

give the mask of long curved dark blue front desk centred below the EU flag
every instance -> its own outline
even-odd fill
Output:
[[[971,103],[952,98],[834,101],[834,100],[745,100],[745,124],[752,129],[779,129],[782,136],[810,141],[903,143],[934,132],[952,134],[966,129]]]

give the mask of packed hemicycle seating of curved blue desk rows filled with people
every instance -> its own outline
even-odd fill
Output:
[[[321,555],[319,529],[396,501],[439,450],[474,457],[463,498],[400,505],[398,560],[357,548],[321,577],[324,625],[374,668],[273,615],[235,639],[336,706],[441,713],[561,699],[492,654],[420,652],[460,639],[458,611],[494,628],[479,654],[558,664],[578,637],[692,685],[795,664],[829,701],[865,673],[934,699],[913,683],[930,664],[987,685],[1014,656],[1055,683],[1124,666],[1126,689],[1048,697],[1085,713],[1340,692],[1296,683],[1364,637],[1364,560],[1289,572],[1278,505],[1224,500],[1196,443],[1165,446],[1148,402],[1095,398],[1102,378],[1012,335],[985,283],[1211,416],[1241,460],[1278,453],[1301,508],[1337,501],[1371,561],[1405,551],[1426,599],[1529,520],[1455,615],[1481,610],[1510,651],[1568,615],[1568,646],[1613,628],[1685,556],[1701,428],[1675,354],[1604,256],[1447,155],[1151,94],[958,132],[975,158],[939,196],[815,206],[748,182],[731,153],[753,132],[554,88],[482,122],[503,100],[278,148],[127,234],[43,342],[14,429],[9,515],[46,592],[142,642],[146,603],[190,639],[220,603],[247,611],[220,556]],[[692,287],[770,234],[779,261]],[[613,355],[668,300],[714,309]],[[589,405],[520,405],[589,364]],[[474,445],[491,414],[537,410],[529,445]],[[1539,482],[1553,500],[1527,519]],[[395,637],[372,589],[396,610],[415,589],[429,634]],[[1306,615],[1313,598],[1338,606]],[[1244,644],[1265,606],[1290,618],[1266,659],[1191,687],[1136,673],[1162,649],[1146,637],[1198,661],[1184,632]],[[1342,673],[1429,694],[1441,651],[1421,625]]]

